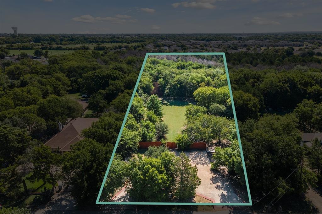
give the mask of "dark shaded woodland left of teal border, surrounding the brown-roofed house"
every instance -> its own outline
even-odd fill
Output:
[[[80,204],[94,204],[137,79],[140,60],[136,57],[121,60],[117,53],[102,56],[80,50],[52,56],[48,65],[28,57],[18,63],[1,61],[3,203],[12,203],[29,194],[25,180],[31,172],[28,179],[53,186],[63,179]],[[71,152],[52,153],[39,140],[46,142],[56,133],[58,122],[65,124],[71,118],[81,117],[81,105],[66,96],[77,91],[92,95],[89,107],[102,116],[91,128],[83,130],[85,139],[76,143]],[[101,161],[97,162],[99,158]],[[22,186],[25,188],[21,189]]]

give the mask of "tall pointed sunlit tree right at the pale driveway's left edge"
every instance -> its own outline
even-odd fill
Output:
[[[197,166],[192,166],[189,158],[184,152],[180,153],[179,158],[176,158],[174,167],[174,196],[179,201],[185,201],[194,198],[196,188],[201,184],[198,177]]]

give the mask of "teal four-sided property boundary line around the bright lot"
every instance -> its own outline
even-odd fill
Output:
[[[230,97],[231,97],[231,101],[232,101],[232,111],[233,111],[236,130],[237,130],[237,138],[238,138],[239,147],[240,147],[240,151],[241,151],[242,165],[243,165],[243,169],[244,169],[244,175],[245,175],[245,181],[246,181],[246,187],[247,187],[249,203],[182,203],[182,202],[177,203],[177,202],[109,202],[109,201],[99,201],[99,198],[100,198],[100,196],[102,194],[102,191],[103,191],[103,188],[104,188],[104,184],[105,184],[106,179],[107,179],[107,175],[109,173],[109,169],[111,167],[113,158],[115,156],[116,148],[118,147],[118,142],[119,142],[119,140],[121,138],[121,134],[122,134],[126,119],[128,117],[128,113],[130,111],[130,108],[131,108],[135,93],[137,91],[139,81],[141,79],[145,64],[147,62],[147,58],[148,58],[148,56],[153,56],[153,55],[222,55],[223,56],[225,70],[226,70],[226,76],[227,76],[227,81],[228,81],[228,87],[229,87],[229,93],[230,93]],[[236,111],[235,111],[234,101],[233,101],[233,97],[232,97],[232,87],[230,85],[228,67],[227,67],[227,61],[226,61],[225,53],[223,53],[223,52],[218,52],[218,53],[207,53],[207,52],[206,53],[199,53],[199,52],[197,52],[197,53],[147,53],[145,55],[145,58],[144,58],[144,61],[143,61],[143,64],[142,64],[142,67],[141,67],[141,70],[140,70],[140,74],[139,74],[139,76],[137,78],[137,83],[136,83],[136,85],[134,87],[132,97],[131,97],[130,103],[128,105],[128,109],[126,111],[126,114],[125,114],[121,129],[120,129],[120,132],[118,133],[118,138],[116,140],[116,144],[115,144],[115,147],[113,149],[112,156],[111,156],[111,158],[109,160],[109,165],[107,167],[107,170],[106,170],[102,185],[101,185],[100,190],[99,190],[99,194],[98,194],[97,199],[96,199],[96,204],[120,204],[120,205],[121,204],[128,204],[128,205],[130,205],[130,204],[132,204],[132,205],[219,205],[219,206],[220,205],[221,206],[224,206],[224,205],[227,205],[227,206],[251,206],[252,205],[251,193],[250,193],[250,190],[249,190],[248,178],[247,178],[246,167],[245,167],[245,160],[244,160],[244,156],[243,156],[243,152],[242,152],[242,143],[241,143],[241,138],[240,138],[240,135],[239,135]]]

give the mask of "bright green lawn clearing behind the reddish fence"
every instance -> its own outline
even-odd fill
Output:
[[[163,121],[169,126],[169,142],[173,142],[181,133],[185,123],[185,108],[189,104],[181,100],[163,100]]]

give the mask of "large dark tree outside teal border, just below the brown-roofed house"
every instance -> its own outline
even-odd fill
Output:
[[[63,179],[80,205],[95,204],[113,146],[83,139],[63,155]]]

